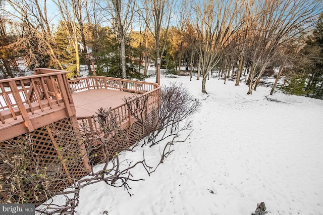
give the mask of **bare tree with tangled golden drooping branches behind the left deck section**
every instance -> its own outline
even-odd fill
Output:
[[[52,61],[50,66],[63,70],[51,33],[51,19],[47,16],[47,2],[8,0],[7,3],[12,8],[7,13],[11,15],[12,23],[16,24],[19,35],[13,47],[17,52],[25,51],[24,60],[28,66],[38,64],[48,55]]]

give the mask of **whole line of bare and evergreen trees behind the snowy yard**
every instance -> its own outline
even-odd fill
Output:
[[[146,74],[148,62],[161,58],[162,68],[178,74],[182,63],[197,69],[202,92],[216,70],[236,76],[236,85],[248,75],[251,94],[280,68],[285,92],[323,95],[320,0],[0,1],[4,77],[14,76],[20,59],[29,69],[66,69],[75,77],[80,64],[91,71],[94,61],[99,75],[140,79],[138,71]]]

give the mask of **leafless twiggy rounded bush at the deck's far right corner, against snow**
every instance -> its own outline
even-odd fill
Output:
[[[170,83],[160,92],[160,106],[147,110],[149,96],[125,98],[125,103],[142,126],[144,144],[157,144],[167,137],[191,128],[190,117],[199,111],[200,101],[194,98],[182,84]],[[149,114],[147,114],[149,113]],[[158,140],[157,140],[158,137]]]

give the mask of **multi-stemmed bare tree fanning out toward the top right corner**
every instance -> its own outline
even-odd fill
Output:
[[[252,62],[249,74],[249,91],[256,89],[273,56],[285,43],[293,43],[315,23],[323,9],[321,1],[272,0],[253,4],[255,14],[251,15],[251,43],[249,60]]]

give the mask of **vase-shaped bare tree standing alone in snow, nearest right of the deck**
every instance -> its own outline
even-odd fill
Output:
[[[192,24],[197,33],[196,50],[202,67],[202,92],[209,72],[220,62],[223,49],[231,42],[238,24],[238,1],[208,0],[192,2]]]

